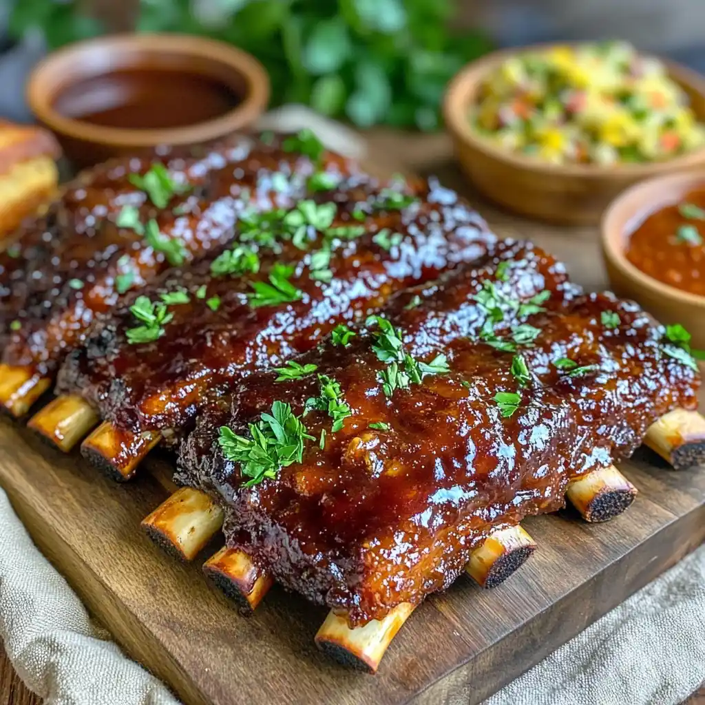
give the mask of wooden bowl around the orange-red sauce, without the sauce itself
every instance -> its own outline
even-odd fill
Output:
[[[654,211],[705,185],[705,169],[659,176],[625,191],[602,219],[602,253],[614,292],[634,299],[662,323],[680,323],[692,334],[694,348],[705,348],[705,296],[691,294],[637,269],[625,250],[631,233]]]

